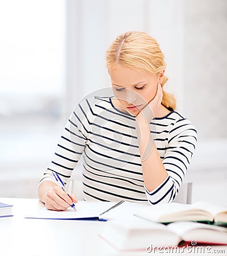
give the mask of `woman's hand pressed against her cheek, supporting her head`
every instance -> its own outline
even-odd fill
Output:
[[[152,119],[157,115],[162,103],[162,86],[160,83],[157,85],[157,92],[154,98],[143,108],[137,115],[136,121],[138,123],[150,123]]]

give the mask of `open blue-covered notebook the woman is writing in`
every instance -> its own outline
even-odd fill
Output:
[[[78,201],[77,212],[72,208],[55,211],[43,208],[25,216],[26,218],[45,218],[52,220],[128,220],[137,218],[133,215],[138,209],[146,208],[147,204],[129,203],[124,200],[116,202]]]

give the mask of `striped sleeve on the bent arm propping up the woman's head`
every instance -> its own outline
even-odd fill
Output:
[[[168,134],[168,146],[162,160],[168,176],[153,191],[145,188],[152,205],[171,203],[179,192],[197,142],[197,131],[188,119],[179,119]]]

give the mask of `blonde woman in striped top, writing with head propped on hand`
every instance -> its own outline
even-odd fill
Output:
[[[159,44],[144,32],[126,32],[108,49],[107,68],[115,97],[88,97],[74,109],[40,180],[39,197],[48,209],[77,203],[52,171],[66,183],[79,159],[84,200],[155,205],[170,203],[179,192],[197,133],[163,89],[166,63]]]

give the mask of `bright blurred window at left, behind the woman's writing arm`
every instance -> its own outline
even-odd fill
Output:
[[[22,197],[62,129],[65,2],[1,1],[0,31],[0,195]]]

